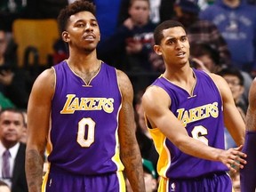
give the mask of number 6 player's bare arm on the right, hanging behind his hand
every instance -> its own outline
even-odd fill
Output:
[[[239,110],[236,108],[230,88],[221,76],[212,74],[212,79],[217,84],[223,100],[224,123],[236,141],[236,145],[244,145],[245,124]]]

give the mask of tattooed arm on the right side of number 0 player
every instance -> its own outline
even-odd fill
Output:
[[[122,108],[119,116],[119,140],[124,172],[132,190],[145,191],[140,148],[135,136],[134,111],[132,107],[132,84],[123,72],[117,71],[118,84],[122,92]]]

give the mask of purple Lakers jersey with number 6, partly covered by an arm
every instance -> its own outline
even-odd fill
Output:
[[[188,135],[201,140],[213,148],[224,149],[224,122],[220,92],[212,78],[204,71],[194,70],[196,85],[193,95],[172,84],[163,76],[153,85],[159,86],[170,95],[170,110],[186,128]],[[170,122],[172,126],[172,122]],[[159,153],[157,172],[172,179],[194,178],[211,172],[228,171],[220,162],[189,156],[176,148],[156,127],[148,128]]]

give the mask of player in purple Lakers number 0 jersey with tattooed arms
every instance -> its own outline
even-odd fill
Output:
[[[29,191],[145,191],[132,84],[97,59],[95,7],[77,0],[58,17],[69,57],[37,77],[28,102]],[[49,170],[43,177],[44,149]]]

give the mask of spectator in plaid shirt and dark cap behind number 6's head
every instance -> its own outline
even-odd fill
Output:
[[[178,0],[174,10],[176,12],[174,20],[180,21],[185,26],[190,44],[209,44],[219,52],[220,65],[230,64],[230,53],[223,36],[212,21],[199,19],[200,8],[196,3]]]

